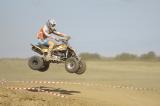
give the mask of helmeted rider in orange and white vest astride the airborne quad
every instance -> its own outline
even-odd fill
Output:
[[[47,55],[48,60],[52,59],[51,51],[54,51],[54,47],[56,45],[56,42],[52,40],[55,39],[55,37],[51,34],[60,37],[69,37],[66,34],[57,32],[55,26],[56,22],[53,18],[51,18],[47,21],[47,23],[44,26],[40,28],[40,31],[37,33],[37,39],[39,40],[38,44],[49,46]]]

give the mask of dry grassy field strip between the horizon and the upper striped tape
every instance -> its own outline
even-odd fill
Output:
[[[83,75],[70,74],[63,64],[51,64],[46,72],[31,70],[26,60],[1,60],[0,78],[7,80],[69,80],[101,83],[141,84],[160,87],[160,84],[144,84],[160,81],[160,62],[137,61],[87,61]],[[135,82],[135,83],[134,83]]]

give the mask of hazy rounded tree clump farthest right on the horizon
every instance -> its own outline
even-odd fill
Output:
[[[140,56],[140,60],[156,60],[158,57],[153,51],[150,51],[146,54],[142,54]]]

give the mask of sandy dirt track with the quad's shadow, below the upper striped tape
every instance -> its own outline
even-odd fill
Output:
[[[109,85],[96,83],[25,81],[5,82],[11,91],[40,94],[43,97],[59,98],[79,103],[76,105],[99,106],[159,106],[160,89],[137,88],[133,86]],[[25,88],[25,90],[24,90]],[[28,89],[29,88],[29,89]],[[23,96],[22,96],[23,98]],[[43,98],[45,99],[45,98]],[[60,101],[59,101],[60,102]],[[82,104],[81,104],[82,103]],[[74,105],[75,105],[74,104]],[[73,105],[73,104],[68,104]]]

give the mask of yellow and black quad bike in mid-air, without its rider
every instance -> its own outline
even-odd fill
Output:
[[[61,42],[60,45],[56,45],[51,55],[53,59],[48,60],[48,46],[45,45],[33,45],[32,50],[41,56],[32,56],[28,60],[28,66],[32,70],[39,72],[45,72],[48,70],[50,63],[65,63],[65,69],[69,73],[83,74],[86,71],[86,64],[75,53],[71,46],[69,46],[70,37],[58,39]],[[56,58],[55,58],[56,57]]]

